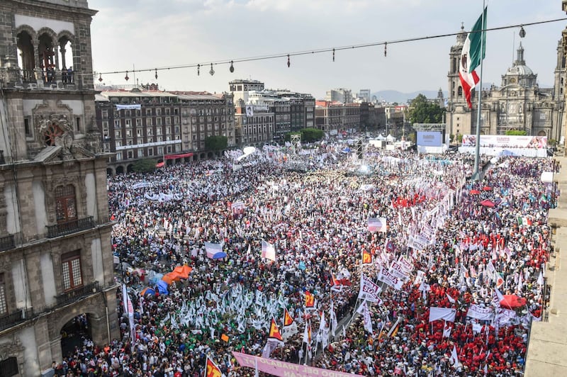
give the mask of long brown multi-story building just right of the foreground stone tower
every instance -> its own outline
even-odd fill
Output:
[[[210,136],[235,145],[231,94],[134,88],[103,90],[96,96],[96,123],[103,147],[114,153],[108,174],[133,170],[137,159],[174,164],[220,155],[206,151]]]

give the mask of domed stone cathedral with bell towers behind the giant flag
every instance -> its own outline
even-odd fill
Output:
[[[461,26],[456,44],[449,52],[449,96],[446,113],[446,132],[449,135],[476,133],[478,91],[471,98],[473,108],[467,106],[461,80],[459,59],[467,33]],[[561,140],[563,118],[563,87],[566,79],[565,58],[561,41],[557,47],[557,64],[554,87],[540,88],[537,74],[526,65],[524,47],[520,42],[512,67],[502,75],[500,86],[482,89],[481,135],[505,135],[508,130],[524,130],[526,135],[546,136],[548,140]]]

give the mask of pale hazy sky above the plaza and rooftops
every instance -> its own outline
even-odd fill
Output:
[[[565,18],[561,0],[492,0],[488,28]],[[236,60],[325,47],[376,43],[470,30],[482,0],[89,0],[99,13],[91,25],[93,69],[105,84],[133,84],[135,69],[200,63],[196,68],[136,73],[140,83],[168,91],[228,91],[232,79],[257,79],[320,99],[327,89],[447,91],[455,36],[214,67]],[[524,27],[524,59],[541,86],[553,84],[556,49],[567,21]],[[483,83],[500,85],[520,43],[519,28],[487,35]],[[515,45],[514,45],[515,44]],[[130,80],[124,79],[128,70]]]

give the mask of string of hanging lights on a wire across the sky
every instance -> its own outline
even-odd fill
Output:
[[[524,36],[526,35],[526,31],[524,29],[524,26],[534,26],[534,25],[541,25],[543,23],[554,23],[554,22],[566,21],[566,20],[567,20],[567,18],[555,18],[555,19],[551,19],[551,20],[534,21],[534,22],[531,22],[531,23],[520,23],[520,24],[515,24],[515,25],[498,26],[498,27],[495,27],[495,28],[486,28],[484,30],[478,30],[478,31],[476,31],[476,33],[480,33],[481,31],[487,32],[487,31],[504,30],[504,29],[510,29],[510,28],[520,28],[520,38],[524,38]],[[213,66],[215,66],[215,65],[230,64],[230,67],[228,68],[228,70],[231,73],[233,73],[233,72],[235,72],[235,67],[234,67],[235,63],[254,62],[254,61],[257,61],[257,60],[271,60],[271,59],[278,59],[278,58],[281,58],[281,57],[287,57],[287,65],[288,65],[288,68],[289,68],[289,67],[291,67],[290,57],[292,57],[292,56],[313,55],[313,54],[320,54],[320,53],[324,53],[324,52],[332,52],[332,61],[335,62],[335,52],[336,51],[353,50],[353,49],[357,49],[357,48],[375,47],[375,46],[380,46],[380,45],[384,46],[384,57],[387,57],[388,45],[392,45],[392,44],[395,44],[395,43],[415,42],[415,41],[418,41],[418,40],[447,38],[447,37],[459,35],[461,33],[462,33],[462,31],[457,32],[457,33],[446,33],[446,34],[439,34],[439,35],[427,35],[427,36],[415,37],[415,38],[405,38],[405,39],[399,39],[399,40],[388,40],[388,41],[383,41],[383,42],[363,43],[363,44],[359,44],[359,45],[347,45],[347,46],[341,46],[341,47],[325,47],[325,48],[320,48],[320,49],[317,49],[317,50],[305,50],[305,51],[296,51],[296,52],[277,53],[277,54],[273,54],[273,55],[261,55],[261,56],[257,56],[257,57],[242,57],[240,59],[231,59],[231,60],[218,60],[218,61],[215,61],[215,62],[210,62],[210,70],[209,70],[208,73],[211,76],[213,76],[215,74],[215,69],[213,69]],[[199,76],[201,74],[201,66],[202,65],[203,64],[201,64],[201,63],[191,63],[191,64],[174,65],[174,66],[171,66],[171,67],[159,67],[159,68],[154,67],[154,68],[148,68],[148,69],[133,69],[130,72],[135,73],[135,72],[152,72],[152,71],[155,71],[155,78],[157,79],[157,71],[163,71],[165,69],[171,70],[171,69],[184,69],[184,68],[196,67],[197,68],[197,76]],[[130,79],[130,77],[128,77],[129,71],[96,72],[96,74],[99,75],[98,80],[102,82],[103,81],[103,78],[102,78],[103,74],[120,74],[122,72],[125,72],[124,79],[126,81],[128,81],[128,79]]]

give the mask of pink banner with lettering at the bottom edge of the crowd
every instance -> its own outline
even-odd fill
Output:
[[[270,373],[279,377],[351,377],[361,376],[359,374],[344,373],[337,371],[329,371],[322,368],[313,368],[301,364],[284,363],[283,361],[274,359],[264,359],[258,356],[242,354],[240,352],[232,351],[240,366],[247,366],[249,368],[258,368],[259,371]]]

